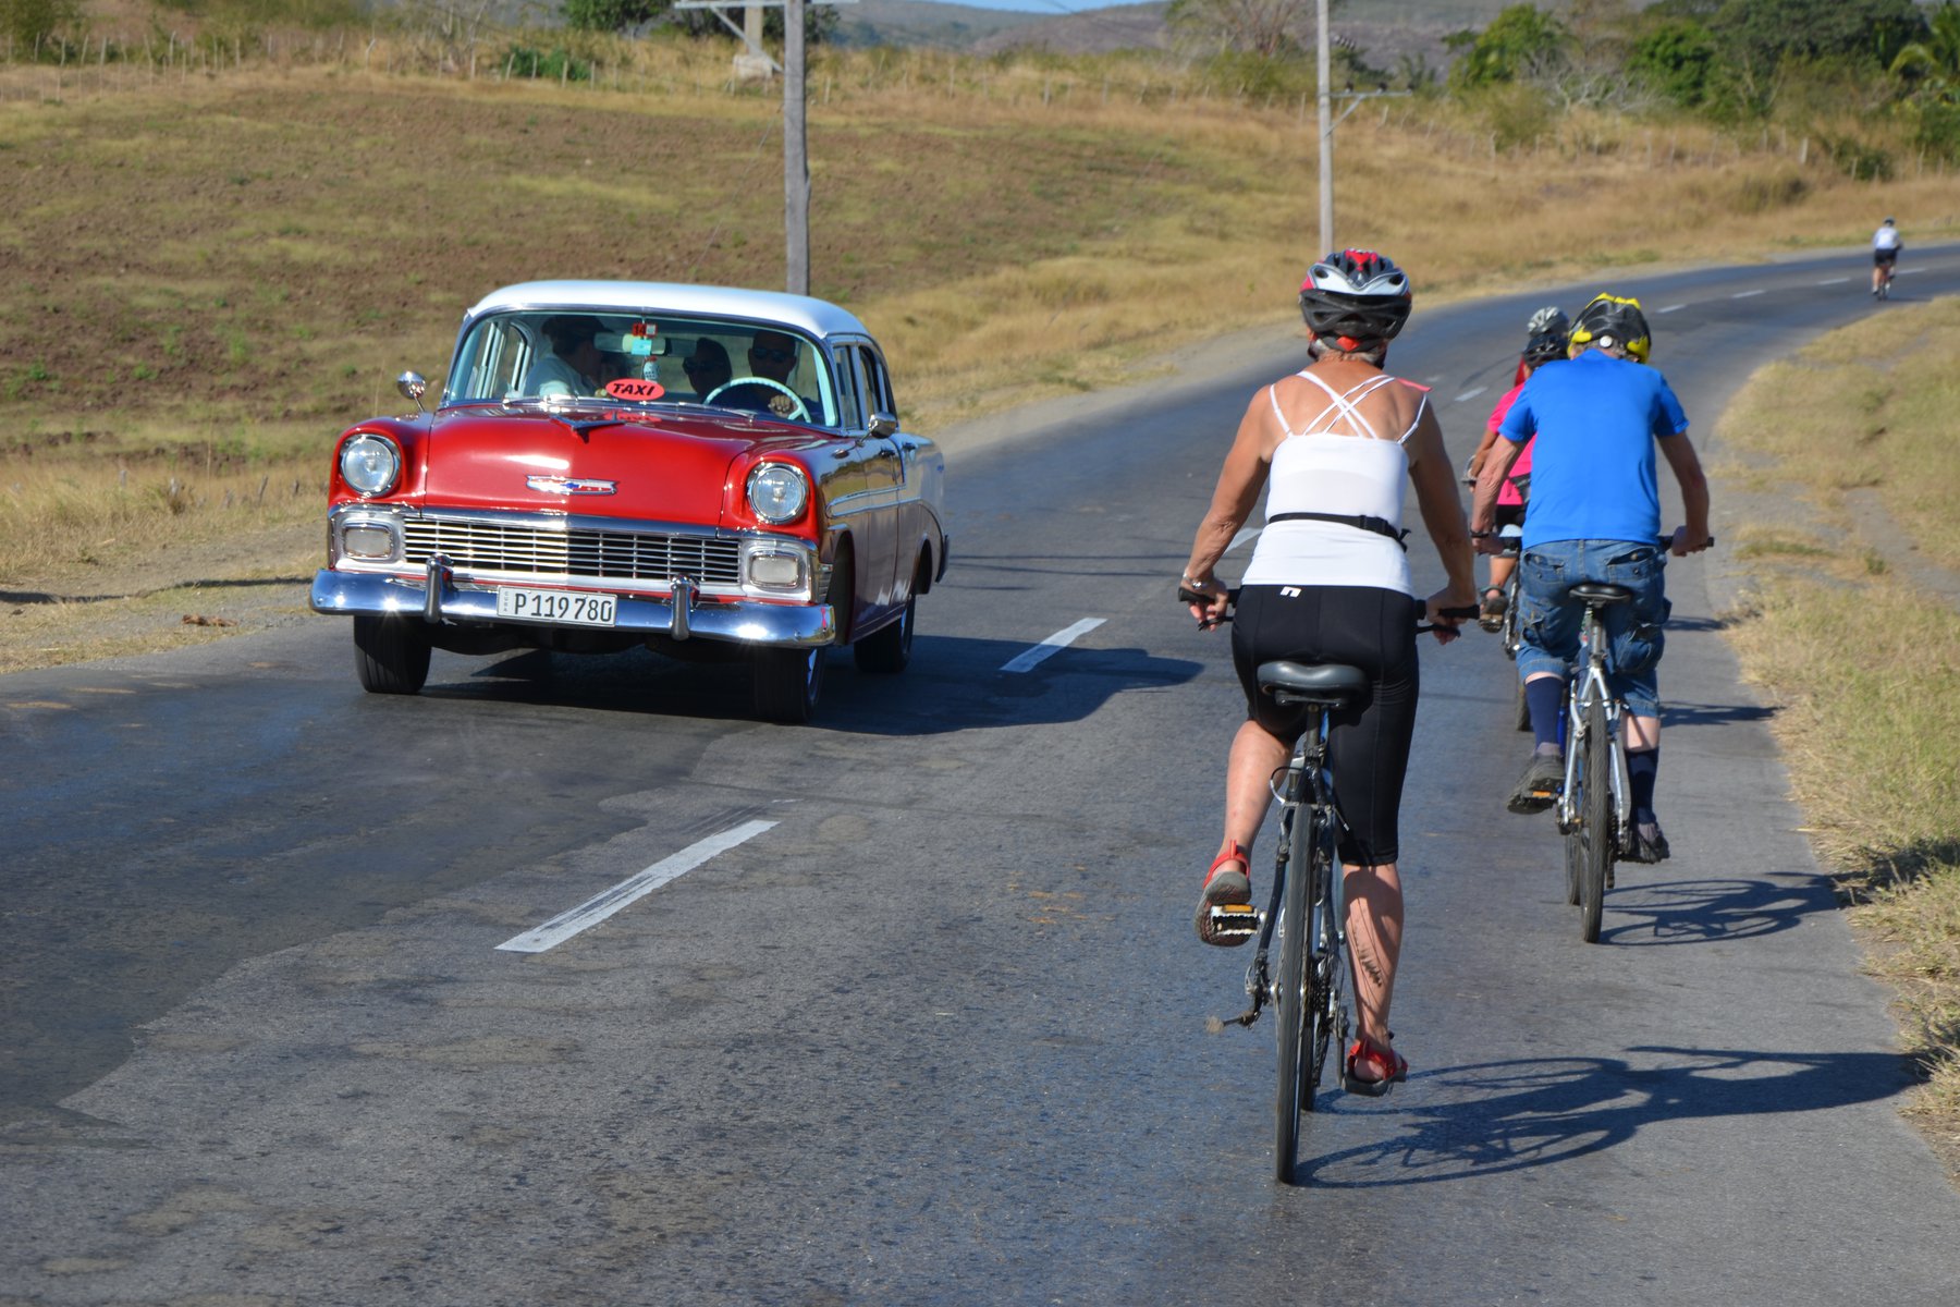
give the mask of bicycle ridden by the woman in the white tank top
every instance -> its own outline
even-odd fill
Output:
[[[1237,604],[1239,592],[1229,590]],[[1184,604],[1205,598],[1178,590]],[[1445,617],[1470,619],[1476,607],[1448,607]],[[1231,615],[1223,617],[1231,621]],[[1417,633],[1435,627],[1417,623]],[[1278,1097],[1274,1103],[1274,1178],[1294,1184],[1299,1160],[1299,1117],[1313,1111],[1327,1072],[1327,1048],[1341,1050],[1341,1088],[1348,1093],[1380,1095],[1380,1082],[1347,1076],[1347,1046],[1352,1029],[1347,1003],[1350,976],[1347,958],[1347,868],[1341,864],[1341,809],[1335,799],[1333,768],[1327,760],[1327,731],[1333,711],[1368,690],[1368,674],[1339,662],[1276,660],[1258,666],[1258,688],[1282,705],[1307,709],[1305,729],[1294,745],[1292,760],[1274,774],[1272,794],[1280,799],[1280,843],[1274,848],[1272,894],[1266,909],[1250,903],[1215,903],[1211,929],[1221,939],[1254,939],[1258,946],[1245,974],[1252,1005],[1231,1025],[1252,1025],[1260,1011],[1278,1007]],[[1296,929],[1294,923],[1303,923]],[[1278,970],[1272,970],[1272,943],[1280,943]],[[1227,1023],[1219,1021],[1217,1029]]]

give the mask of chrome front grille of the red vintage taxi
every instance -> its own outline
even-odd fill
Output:
[[[627,582],[688,576],[702,586],[741,584],[741,541],[713,535],[410,517],[402,537],[406,562],[417,568],[431,555],[443,555],[461,572]]]

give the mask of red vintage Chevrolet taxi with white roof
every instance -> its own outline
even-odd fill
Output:
[[[808,721],[823,653],[904,670],[947,568],[945,457],[900,427],[884,355],[823,300],[527,282],[463,315],[435,411],[347,429],[312,605],[351,615],[374,694],[429,651],[745,658]]]

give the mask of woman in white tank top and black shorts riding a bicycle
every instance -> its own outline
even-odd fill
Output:
[[[1207,944],[1211,905],[1250,903],[1250,850],[1286,766],[1303,711],[1258,692],[1258,664],[1272,658],[1345,662],[1368,674],[1368,694],[1333,715],[1331,760],[1339,778],[1341,860],[1347,864],[1348,941],[1360,1039],[1347,1050],[1343,1082],[1386,1093],[1409,1064],[1390,1046],[1388,1007],[1401,950],[1401,882],[1396,872],[1401,780],[1415,731],[1417,604],[1401,543],[1401,486],[1415,482],[1423,525],[1443,555],[1448,584],[1427,617],[1448,627],[1445,607],[1470,607],[1476,580],[1470,531],[1443,429],[1423,386],[1382,372],[1388,343],[1409,317],[1409,278],[1368,251],[1327,255],[1299,286],[1311,363],[1260,388],[1245,417],[1211,508],[1198,525],[1182,584],[1200,625],[1225,617],[1229,598],[1213,576],[1260,490],[1266,527],[1245,570],[1233,621],[1233,666],[1245,686],[1247,721],[1225,772],[1225,837],[1205,872],[1198,937]]]

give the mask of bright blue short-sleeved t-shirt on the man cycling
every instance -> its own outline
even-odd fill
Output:
[[[1688,429],[1668,380],[1631,359],[1588,349],[1546,363],[1497,429],[1531,447],[1523,549],[1550,541],[1660,537],[1654,441]]]

